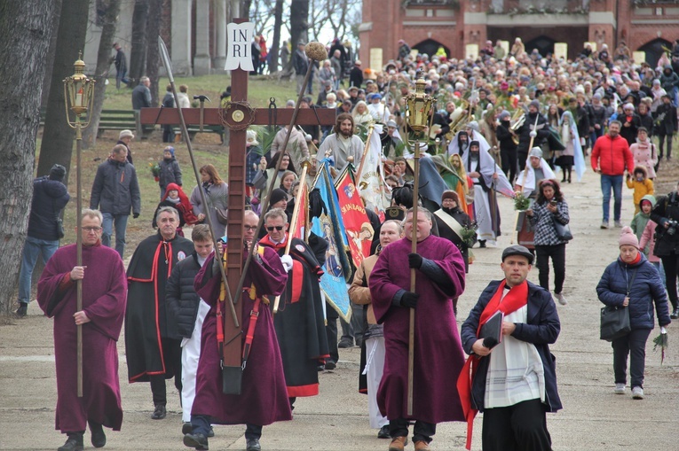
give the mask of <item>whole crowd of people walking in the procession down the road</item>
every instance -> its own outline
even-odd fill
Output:
[[[55,318],[55,346],[69,349],[57,353],[56,425],[67,434],[59,451],[83,449],[88,424],[96,447],[106,443],[103,426],[120,429],[117,354],[109,351],[123,321],[129,382],[150,383],[151,417],[161,420],[167,415],[165,380],[174,377],[187,447],[208,449],[212,424],[245,424],[247,449],[261,449],[263,426],[291,419],[296,398],[319,394],[318,373],[336,368],[338,348],[356,345],[370,426],[379,429],[379,438],[391,439],[390,451],[406,447],[413,423],[415,449],[430,449],[436,425],[446,421],[468,423],[469,447],[477,411],[484,412],[484,450],[551,449],[546,413],[560,409],[561,401],[549,345],[560,331],[557,304],[568,304],[565,253],[572,239],[563,185],[581,181],[587,156],[601,180],[601,228],[610,228],[611,191],[613,226],[621,228],[620,258],[596,287],[605,305],[629,310],[631,331],[612,343],[614,390],[625,393],[631,354],[632,394],[643,399],[643,349],[654,326],[652,307],[662,327],[679,317],[679,194],[656,198],[653,189],[662,159],[671,159],[677,131],[677,68],[671,61],[658,68],[636,65],[624,52],[612,59],[604,45],[567,61],[528,53],[518,38],[506,55],[499,43],[487,43],[478,58],[460,60],[446,58],[445,52],[414,57],[407,43],[399,45],[399,57],[381,71],[363,70],[359,60],[351,60],[347,70],[346,48],[328,49],[331,58],[320,67],[317,100],[306,96],[299,106],[336,109],[334,126],[280,128],[271,140],[263,139],[262,130],[248,130],[249,211],[242,245],[249,264],[244,289],[237,293],[235,341],[223,329],[230,306],[226,291],[233,291],[222,283],[219,270],[227,266],[225,244],[212,245],[211,233],[223,237],[228,224],[229,186],[215,166],[200,168],[201,183],[187,196],[175,149],[164,147],[156,171],[161,198],[151,224],[157,231],[138,245],[126,275],[126,224],[130,214],[140,214],[130,155],[134,134],[123,130],[98,168],[79,230],[82,266],[75,265],[75,245],[54,252],[56,218],[68,201],[60,182],[63,167],[36,179],[17,313],[26,315],[29,288],[24,285],[42,249],[47,266],[38,302]],[[304,64],[312,64],[302,49],[291,58],[295,67],[300,65],[298,75],[306,72]],[[339,72],[333,58],[343,63]],[[435,102],[428,126],[415,131],[406,120],[405,97],[421,78]],[[303,82],[298,80],[299,91]],[[353,305],[351,321],[344,321],[325,302],[319,285],[336,249],[315,234],[307,241],[293,237],[290,219],[304,192],[300,188],[312,184],[326,160],[333,176],[351,162],[359,166],[371,125],[380,138],[382,189],[390,203],[363,199],[373,246],[353,276],[347,275]],[[265,141],[273,144],[264,148]],[[422,150],[418,175],[426,180],[419,199],[413,196],[415,143]],[[304,180],[306,161],[310,169]],[[634,191],[631,229],[622,228],[625,179]],[[473,253],[496,245],[501,235],[498,195],[515,199],[517,222],[509,229],[516,227],[518,245],[503,250],[504,279],[488,284],[458,330],[457,299]],[[211,230],[205,225],[208,216]],[[260,216],[264,227],[257,236]],[[36,234],[48,226],[55,233]],[[188,228],[192,240],[184,237]],[[479,250],[472,252],[475,247]],[[533,261],[539,285],[526,280]],[[644,281],[643,292],[630,278]],[[87,290],[83,309],[76,311],[75,285],[81,283]],[[415,382],[408,406],[412,321]],[[72,374],[75,325],[86,330],[89,356],[82,400]],[[222,352],[233,343],[241,345],[242,365],[235,370],[225,365],[227,353]],[[442,346],[446,359],[432,354]]]

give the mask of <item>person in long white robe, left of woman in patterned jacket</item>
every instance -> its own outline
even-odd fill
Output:
[[[467,177],[474,183],[474,221],[478,226],[478,243],[486,247],[486,242],[495,244],[500,236],[500,209],[497,206],[495,191],[509,192],[511,185],[495,164],[490,153],[479,149],[478,142],[472,141],[470,152],[462,156]]]

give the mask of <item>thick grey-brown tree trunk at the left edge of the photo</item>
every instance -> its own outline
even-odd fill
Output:
[[[36,135],[45,59],[50,47],[54,1],[23,0],[0,3],[0,315],[9,316],[16,299],[18,264],[26,239],[33,196]]]

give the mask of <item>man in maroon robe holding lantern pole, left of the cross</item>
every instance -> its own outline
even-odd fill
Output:
[[[122,407],[118,352],[125,315],[125,268],[120,255],[101,245],[102,216],[83,211],[83,266],[76,265],[75,245],[61,247],[44,268],[37,301],[54,318],[57,363],[56,429],[68,435],[59,451],[83,449],[85,425],[90,424],[94,447],[106,445],[103,426],[120,431]],[[83,309],[76,311],[76,282],[82,280]],[[83,327],[83,397],[77,395],[76,325]]]

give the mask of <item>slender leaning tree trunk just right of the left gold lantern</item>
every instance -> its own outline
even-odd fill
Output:
[[[120,12],[120,0],[107,0],[102,4],[106,8],[103,15],[104,26],[101,28],[99,51],[97,52],[97,68],[94,71],[94,103],[90,112],[90,127],[83,130],[83,149],[88,149],[97,144],[97,130],[101,109],[104,107],[104,95],[107,91],[108,69],[111,67],[111,49],[118,25],[118,12]]]

